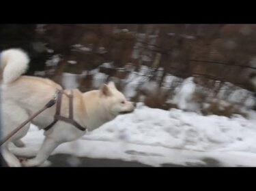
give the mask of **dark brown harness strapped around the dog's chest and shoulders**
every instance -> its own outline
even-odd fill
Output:
[[[61,120],[61,121],[64,121],[64,122],[67,122],[67,123],[70,123],[70,124],[74,125],[76,128],[79,128],[79,130],[81,130],[81,131],[85,131],[86,128],[84,128],[78,122],[76,122],[74,120],[73,91],[72,90],[71,90],[70,94],[66,94],[66,96],[68,97],[68,101],[69,101],[69,118],[66,118],[66,117],[63,117],[63,116],[60,115],[62,94],[66,94],[66,93],[63,92],[63,90],[59,90],[58,96],[57,96],[56,113],[55,113],[55,116],[54,116],[54,121],[51,124],[49,124],[48,126],[46,126],[46,128],[44,128],[44,130],[48,131],[53,125],[55,125],[55,123],[58,120]]]

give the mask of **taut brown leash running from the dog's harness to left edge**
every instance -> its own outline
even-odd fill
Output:
[[[33,120],[33,118],[35,118],[36,116],[38,116],[39,114],[42,113],[42,111],[44,111],[45,109],[48,109],[50,107],[52,107],[53,105],[55,105],[56,100],[57,100],[57,95],[59,94],[59,90],[57,90],[55,92],[55,96],[53,99],[51,99],[48,103],[46,103],[46,105],[44,105],[44,107],[42,109],[40,109],[39,111],[37,111],[35,114],[33,114],[30,118],[28,118],[27,120],[25,120],[25,122],[23,122],[22,124],[20,124],[17,128],[14,129],[14,131],[12,131],[11,133],[9,133],[3,140],[0,141],[0,147],[1,145],[3,145],[3,143],[5,143],[6,141],[8,141],[8,139],[10,139],[15,133],[17,133],[18,131],[20,131],[21,128],[23,128],[23,126],[25,126],[28,122],[30,122],[31,120]]]

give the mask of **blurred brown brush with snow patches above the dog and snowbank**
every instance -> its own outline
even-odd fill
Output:
[[[113,81],[148,107],[231,116],[255,109],[256,24],[1,24],[27,75],[85,92]]]

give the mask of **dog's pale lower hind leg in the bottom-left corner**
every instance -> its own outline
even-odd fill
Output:
[[[5,143],[5,145],[2,145],[1,150],[2,156],[9,167],[21,167],[20,161],[10,150],[8,149],[8,143]]]

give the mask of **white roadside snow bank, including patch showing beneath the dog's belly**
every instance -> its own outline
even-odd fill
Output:
[[[205,158],[223,167],[256,167],[256,120],[234,116],[201,116],[180,109],[152,109],[142,103],[132,114],[81,137],[59,145],[53,154],[161,164],[205,165]],[[31,126],[24,148],[12,146],[20,156],[35,156],[43,131]]]

